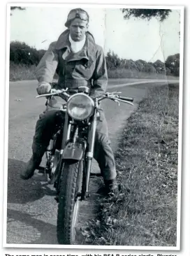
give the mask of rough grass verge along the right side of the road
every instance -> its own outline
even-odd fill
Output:
[[[100,199],[91,244],[176,246],[178,90],[149,89],[127,120],[115,155],[122,194]]]

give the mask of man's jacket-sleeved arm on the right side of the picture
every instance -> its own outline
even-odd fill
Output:
[[[97,97],[105,93],[108,85],[108,73],[102,48],[99,48],[96,54],[96,67],[92,79],[93,85],[90,96]]]

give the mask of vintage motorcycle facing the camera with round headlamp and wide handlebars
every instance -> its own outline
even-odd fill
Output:
[[[59,109],[64,114],[64,124],[52,137],[45,152],[45,167],[39,167],[54,184],[57,192],[57,241],[59,244],[75,243],[75,226],[78,222],[80,202],[89,194],[89,178],[99,104],[103,99],[133,105],[133,98],[121,97],[120,92],[106,92],[92,99],[89,87],[73,90],[57,90],[37,97],[64,97]],[[94,173],[93,173],[94,174]],[[96,174],[101,176],[101,174]]]

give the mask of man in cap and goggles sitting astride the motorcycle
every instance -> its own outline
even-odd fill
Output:
[[[68,13],[65,26],[68,27],[56,42],[50,44],[49,49],[36,68],[38,79],[38,94],[47,94],[52,89],[54,73],[59,79],[55,89],[77,89],[79,86],[88,86],[90,96],[96,97],[105,92],[108,76],[103,49],[96,45],[94,37],[88,32],[89,15],[80,8]],[[49,107],[57,106],[57,99],[50,101]],[[115,159],[108,139],[108,127],[103,111],[100,111],[100,120],[96,128],[96,142],[94,158],[103,173],[105,192],[116,192]],[[59,126],[59,111],[48,109],[40,116],[36,123],[36,132],[32,145],[33,155],[22,171],[20,177],[24,180],[34,175],[35,169],[41,164],[47,145],[54,133],[55,125]]]

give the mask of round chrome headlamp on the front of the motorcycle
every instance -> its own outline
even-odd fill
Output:
[[[85,93],[71,96],[67,101],[68,115],[78,121],[90,118],[94,113],[94,101]]]

